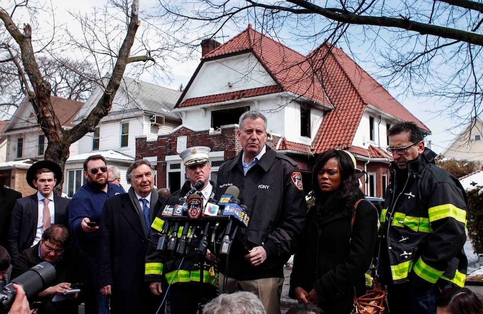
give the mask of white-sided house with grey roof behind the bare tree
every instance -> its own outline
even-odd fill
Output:
[[[97,87],[79,110],[74,123],[84,119],[97,105],[103,89]],[[66,162],[64,192],[72,196],[84,182],[83,161],[87,156],[102,154],[108,164],[121,171],[121,184],[126,188],[126,170],[136,156],[135,139],[138,136],[155,140],[181,124],[179,113],[172,112],[180,91],[125,78],[116,92],[109,114],[101,119],[96,131],[87,133],[78,144],[78,154]],[[157,155],[142,155],[153,165]],[[126,189],[127,190],[127,189]]]

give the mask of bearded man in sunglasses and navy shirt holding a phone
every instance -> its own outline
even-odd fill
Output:
[[[107,180],[106,160],[102,155],[89,156],[84,161],[84,177],[87,183],[74,194],[69,211],[69,226],[80,254],[85,258],[91,281],[95,284],[99,223],[104,203],[123,191]],[[89,287],[85,298],[86,314],[107,314],[109,299],[98,289]]]

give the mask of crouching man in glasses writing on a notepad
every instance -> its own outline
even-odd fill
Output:
[[[69,230],[65,226],[50,226],[39,243],[20,253],[13,265],[12,279],[41,262],[48,262],[55,268],[55,281],[37,296],[29,297],[28,301],[37,304],[40,314],[78,313],[78,306],[83,301],[84,285],[87,283],[87,267],[78,250],[69,245]],[[53,302],[52,298],[56,294],[72,289],[80,289],[80,292],[66,294],[63,296],[65,300]]]

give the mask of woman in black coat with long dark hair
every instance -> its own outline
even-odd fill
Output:
[[[350,312],[354,289],[358,296],[365,293],[365,272],[372,263],[377,210],[366,200],[355,209],[364,199],[355,166],[354,156],[344,150],[330,149],[317,157],[315,205],[307,214],[290,276],[290,297],[316,304],[325,314]]]

